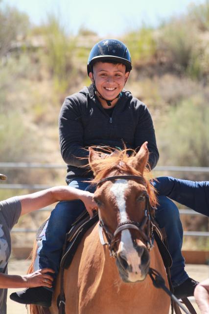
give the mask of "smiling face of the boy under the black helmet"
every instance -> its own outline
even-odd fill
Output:
[[[122,91],[125,82],[129,76],[126,67],[122,63],[96,62],[93,65],[93,74],[90,72],[89,77],[95,82],[99,94],[107,99],[112,100]],[[103,107],[108,107],[107,103],[99,99]],[[115,105],[118,99],[112,102]],[[104,103],[104,105],[103,105]]]

